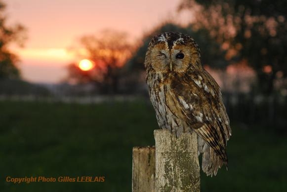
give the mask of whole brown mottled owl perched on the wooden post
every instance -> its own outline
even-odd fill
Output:
[[[198,154],[206,175],[227,168],[226,145],[231,136],[219,85],[201,64],[195,40],[181,33],[152,38],[146,52],[146,82],[160,128],[176,137],[196,132]]]

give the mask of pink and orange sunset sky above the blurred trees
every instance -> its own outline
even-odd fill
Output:
[[[140,39],[161,22],[178,16],[180,0],[4,0],[8,24],[27,28],[24,48],[15,48],[24,79],[56,83],[66,77],[65,66],[76,61],[67,51],[77,38],[104,29],[127,32]],[[84,59],[84,58],[81,58]]]

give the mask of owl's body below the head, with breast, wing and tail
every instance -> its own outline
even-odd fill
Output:
[[[153,79],[149,81],[153,82],[150,96],[154,107],[158,108],[160,126],[171,126],[173,131],[170,122],[175,122],[177,125],[181,123],[183,132],[189,131],[186,126],[195,131],[203,140],[202,145],[199,143],[199,152],[204,153],[204,160],[207,159],[205,167],[203,162],[203,169],[207,175],[216,175],[218,167],[227,165],[225,146],[231,136],[218,84],[205,70],[189,74],[169,73]]]

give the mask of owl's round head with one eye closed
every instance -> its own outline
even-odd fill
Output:
[[[162,33],[152,38],[145,67],[162,73],[185,73],[201,69],[201,54],[193,38],[181,33]]]

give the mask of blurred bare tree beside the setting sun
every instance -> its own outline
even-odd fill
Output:
[[[83,36],[80,47],[80,52],[76,49],[77,54],[91,60],[94,68],[83,72],[78,64],[71,64],[68,67],[69,78],[80,83],[93,82],[102,93],[117,93],[121,69],[133,50],[127,34],[105,30],[100,34]]]

